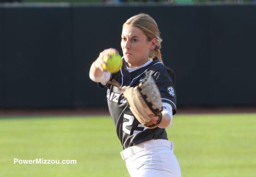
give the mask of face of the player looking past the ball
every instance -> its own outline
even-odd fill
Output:
[[[125,25],[122,31],[121,48],[128,67],[143,65],[149,60],[152,41],[138,27]]]

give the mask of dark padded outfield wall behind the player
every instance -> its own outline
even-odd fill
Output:
[[[0,6],[0,108],[106,106],[89,68],[148,13],[176,72],[178,106],[256,106],[256,5]]]

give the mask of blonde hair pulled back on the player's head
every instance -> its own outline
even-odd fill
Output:
[[[139,28],[148,37],[149,41],[151,41],[153,38],[156,38],[156,48],[150,51],[149,58],[151,59],[157,57],[159,61],[163,63],[160,51],[161,42],[163,40],[160,37],[160,32],[156,21],[148,14],[138,14],[126,20],[126,22],[123,24],[123,27],[125,25],[131,25]]]

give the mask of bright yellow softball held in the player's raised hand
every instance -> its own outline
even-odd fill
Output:
[[[123,64],[122,57],[117,53],[110,53],[108,56],[104,56],[103,61],[102,68],[111,73],[118,72]]]

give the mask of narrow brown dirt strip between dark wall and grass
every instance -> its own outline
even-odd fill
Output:
[[[256,113],[256,107],[184,107],[177,114]],[[90,109],[0,109],[0,116],[109,115],[107,108]]]

